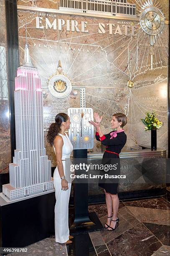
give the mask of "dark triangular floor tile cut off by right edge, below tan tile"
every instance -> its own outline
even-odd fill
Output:
[[[153,223],[144,223],[144,225],[163,243],[170,246],[170,226],[158,225]]]

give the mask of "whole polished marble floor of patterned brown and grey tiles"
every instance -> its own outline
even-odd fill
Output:
[[[89,206],[101,223],[107,220],[105,204]],[[69,209],[73,214],[73,209]],[[167,195],[143,200],[124,200],[119,205],[119,228],[74,236],[63,245],[51,236],[27,246],[28,256],[168,256],[170,255],[170,187]],[[10,255],[23,256],[15,253]]]

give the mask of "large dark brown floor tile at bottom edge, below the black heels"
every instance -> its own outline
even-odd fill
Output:
[[[112,256],[150,256],[162,244],[145,225],[139,223],[107,243],[107,246]]]

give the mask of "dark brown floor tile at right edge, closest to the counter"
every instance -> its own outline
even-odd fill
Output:
[[[170,202],[167,202],[164,198],[152,198],[149,200],[137,200],[124,202],[127,206],[144,207],[152,209],[170,210]]]

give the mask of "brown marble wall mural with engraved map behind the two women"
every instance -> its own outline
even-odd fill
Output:
[[[157,131],[157,146],[167,149],[169,1],[161,1],[160,5],[151,2],[165,17],[165,26],[153,46],[150,46],[151,37],[140,26],[140,13],[144,4],[149,5],[147,1],[124,0],[124,4],[135,5],[135,15],[113,17],[104,12],[97,15],[97,12],[79,13],[74,8],[61,10],[60,1],[18,0],[20,64],[27,23],[30,56],[41,76],[45,131],[58,112],[81,106],[81,89],[84,89],[86,108],[103,115],[104,133],[110,131],[112,115],[122,112],[128,118],[124,127],[126,146],[150,145],[150,132],[144,131],[140,118],[144,118],[146,111],[155,111],[164,122]],[[153,20],[156,17],[155,14]],[[148,16],[148,23],[152,24],[153,20]],[[60,99],[48,90],[48,81],[56,73],[58,61],[72,84],[71,93]],[[128,81],[134,87],[128,87]],[[53,151],[47,143],[46,150],[53,160]],[[92,150],[101,151],[100,143],[95,141]]]

